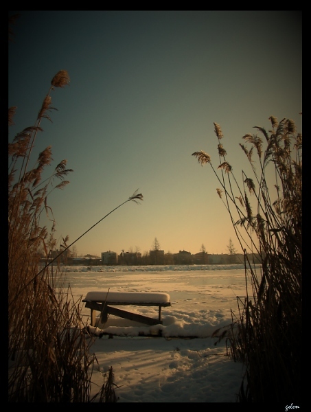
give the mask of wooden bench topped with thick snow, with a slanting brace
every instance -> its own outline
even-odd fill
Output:
[[[108,314],[113,314],[117,317],[129,319],[130,321],[145,323],[146,325],[159,325],[161,321],[161,308],[171,306],[170,295],[168,293],[136,293],[136,292],[89,292],[84,297],[82,302],[85,302],[85,307],[91,309],[91,326],[95,326],[96,317],[95,311],[100,312],[100,323],[105,323],[108,319]],[[113,308],[113,306],[158,306],[159,318],[154,319]]]

